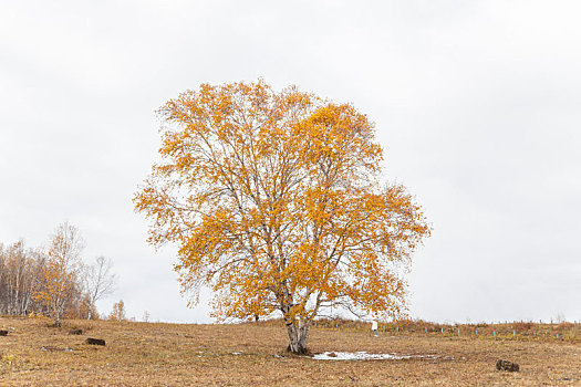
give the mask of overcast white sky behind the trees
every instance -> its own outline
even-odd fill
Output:
[[[200,83],[297,84],[376,123],[434,226],[409,275],[432,321],[581,320],[581,3],[0,0],[0,241],[77,226],[138,320],[186,307],[132,196],[154,111]]]

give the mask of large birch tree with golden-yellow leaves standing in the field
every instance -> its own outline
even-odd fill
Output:
[[[162,161],[135,195],[149,242],[176,243],[184,291],[209,286],[220,318],[280,313],[307,352],[328,306],[396,316],[421,208],[380,179],[373,124],[349,104],[264,82],[201,85],[159,114]]]

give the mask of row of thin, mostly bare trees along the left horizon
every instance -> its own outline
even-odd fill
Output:
[[[60,224],[48,247],[30,249],[22,240],[0,242],[0,314],[42,314],[54,318],[98,318],[96,302],[114,291],[111,259],[83,260],[79,229]]]

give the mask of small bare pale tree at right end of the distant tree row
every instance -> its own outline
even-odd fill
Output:
[[[95,259],[95,263],[89,265],[85,274],[85,290],[89,294],[89,302],[95,305],[98,300],[110,295],[115,291],[117,276],[112,272],[113,261],[103,255]],[[93,317],[90,310],[87,320]]]

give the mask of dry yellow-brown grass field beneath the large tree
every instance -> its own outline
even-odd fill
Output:
[[[69,321],[54,328],[45,320],[0,317],[0,330],[9,331],[0,336],[0,386],[581,386],[579,325],[483,325],[478,336],[475,326],[461,326],[460,336],[457,327],[426,325],[425,333],[422,326],[382,326],[372,337],[363,324],[319,323],[310,336],[313,353],[437,356],[350,362],[289,356],[286,332],[272,322]],[[85,332],[71,335],[71,328]],[[84,344],[86,337],[106,346]],[[498,358],[521,370],[496,370]]]

